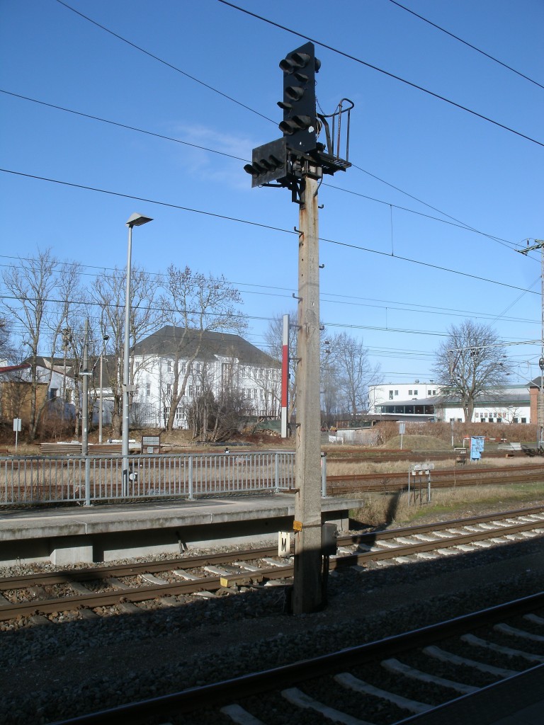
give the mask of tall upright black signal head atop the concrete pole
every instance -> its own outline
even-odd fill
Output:
[[[313,43],[305,43],[288,53],[279,64],[284,72],[284,98],[278,101],[284,120],[279,129],[289,149],[295,152],[307,153],[316,149],[316,72],[320,66]]]

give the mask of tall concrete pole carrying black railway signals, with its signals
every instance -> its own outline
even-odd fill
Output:
[[[292,202],[299,204],[299,228],[295,228],[299,254],[292,609],[294,614],[302,614],[315,612],[326,601],[321,524],[318,188],[324,173],[334,174],[350,166],[347,152],[353,103],[342,99],[334,113],[316,112],[315,76],[321,63],[313,43],[288,53],[279,67],[284,72],[284,96],[278,103],[284,112],[279,123],[284,136],[253,149],[252,163],[244,169],[251,174],[253,187],[289,188]],[[346,159],[339,154],[344,114]],[[323,129],[326,145],[317,140]]]

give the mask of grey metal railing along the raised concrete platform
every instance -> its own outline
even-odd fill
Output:
[[[0,457],[0,505],[192,499],[294,488],[294,452]]]

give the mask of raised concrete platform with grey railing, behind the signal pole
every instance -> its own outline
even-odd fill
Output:
[[[360,499],[321,499],[322,523],[349,529]],[[292,531],[294,494],[0,511],[0,566],[59,566],[170,554],[237,542],[277,541]]]

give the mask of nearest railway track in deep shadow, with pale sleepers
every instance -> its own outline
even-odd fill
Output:
[[[400,724],[544,663],[544,592],[365,645],[122,705],[63,725]],[[150,719],[151,718],[151,719]],[[157,719],[159,718],[159,719]],[[458,720],[466,721],[466,720]],[[57,724],[60,725],[60,724]]]

